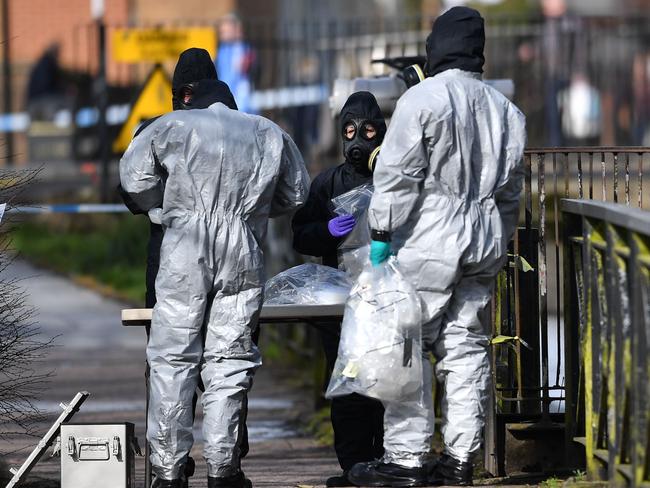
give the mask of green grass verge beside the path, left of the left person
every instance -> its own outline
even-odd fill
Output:
[[[148,239],[148,220],[131,215],[46,216],[12,232],[25,259],[135,304],[144,303]]]

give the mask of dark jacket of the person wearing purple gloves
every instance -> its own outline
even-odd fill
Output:
[[[293,248],[300,254],[323,258],[323,264],[338,267],[337,248],[341,238],[327,229],[336,217],[331,200],[357,186],[371,183],[372,176],[361,175],[350,163],[343,163],[319,174],[311,184],[307,203],[293,217]]]

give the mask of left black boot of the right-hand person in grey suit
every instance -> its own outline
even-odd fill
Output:
[[[348,479],[357,486],[426,486],[427,472],[425,468],[372,461],[355,464]]]

